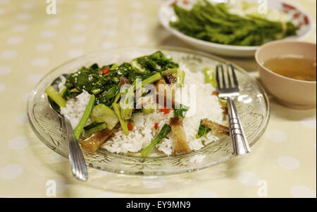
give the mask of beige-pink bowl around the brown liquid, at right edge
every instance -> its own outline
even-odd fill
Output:
[[[300,55],[316,62],[316,44],[302,41],[273,41],[261,46],[255,56],[262,84],[278,102],[294,109],[316,107],[316,81],[291,79],[264,67],[266,61],[283,55]]]

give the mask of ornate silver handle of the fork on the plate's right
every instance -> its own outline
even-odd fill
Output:
[[[244,134],[242,125],[240,124],[240,118],[235,107],[235,100],[233,98],[228,98],[227,105],[231,138],[231,153],[237,156],[242,156],[251,152],[249,143]]]

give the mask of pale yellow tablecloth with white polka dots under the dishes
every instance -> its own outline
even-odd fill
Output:
[[[266,133],[248,157],[195,173],[135,176],[88,168],[82,183],[68,160],[35,136],[27,96],[54,67],[117,46],[188,47],[159,25],[161,3],[57,0],[56,15],[48,15],[45,1],[0,0],[0,197],[316,197],[316,109],[287,109],[273,98]],[[297,4],[316,22],[316,1]],[[316,42],[316,29],[308,40]],[[256,67],[253,59],[229,60],[250,72]]]

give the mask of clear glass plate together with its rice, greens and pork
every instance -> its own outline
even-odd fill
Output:
[[[144,55],[148,55],[148,58],[154,55],[154,58],[163,58],[169,62],[156,64],[157,69],[150,73],[147,69],[151,67],[145,64],[151,61],[142,63],[142,60],[136,60]],[[78,135],[88,166],[116,173],[143,175],[184,173],[213,166],[233,157],[230,153],[230,138],[225,135],[228,125],[225,105],[218,99],[213,81],[214,67],[225,62],[204,53],[168,47],[118,48],[91,53],[57,67],[37,84],[27,104],[30,125],[42,142],[63,157],[68,157],[66,131],[62,121],[49,109],[45,94],[51,82],[60,77],[56,90],[66,101],[61,107],[61,114],[70,119],[73,128],[77,129],[80,125],[86,107],[94,95],[94,107]],[[120,89],[120,81],[124,79],[118,74],[109,75],[108,79],[118,79],[105,83],[111,84],[111,88],[118,84],[112,95],[110,91],[113,89],[111,90],[110,86],[97,86],[101,90],[99,91],[96,86],[80,87],[74,84],[77,80],[75,78],[82,73],[79,72],[82,67],[85,67],[87,72],[94,68],[101,77],[106,77],[107,74],[118,73],[125,63],[130,69],[139,72],[145,69],[140,76],[125,75],[128,79],[125,84],[132,84],[125,90]],[[240,98],[237,99],[237,110],[252,146],[268,124],[268,98],[254,79],[240,67],[235,66],[235,69],[241,90]],[[146,72],[148,75],[144,74]],[[61,77],[62,74],[69,76]],[[159,100],[155,102],[159,90],[156,95],[145,95],[148,93],[133,89],[137,86],[135,79],[138,78],[143,81],[151,79],[147,82],[154,86],[155,91],[158,89],[157,84],[170,88],[173,93],[170,96],[173,99],[171,105],[166,105],[166,94],[163,95],[161,104]],[[163,82],[159,83],[159,80]],[[129,88],[132,88],[133,96],[137,95],[137,91],[141,91],[140,98],[132,101],[131,110],[123,110],[120,102],[124,102],[125,97],[128,100]],[[66,90],[66,94],[63,94]],[[186,100],[183,100],[183,96]],[[106,111],[111,110],[114,119],[104,118],[104,110],[101,110],[105,109],[104,107]],[[218,131],[217,128],[208,127],[208,124],[215,124]],[[101,131],[110,132],[111,135],[103,138],[103,142],[97,147],[89,148],[89,141],[94,141],[93,138]]]

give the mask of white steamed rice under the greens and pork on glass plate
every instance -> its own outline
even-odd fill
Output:
[[[199,150],[204,145],[218,140],[218,137],[212,133],[207,133],[207,135],[198,139],[196,138],[200,120],[208,118],[219,124],[223,124],[223,110],[221,109],[218,97],[211,95],[213,91],[216,91],[215,88],[211,84],[204,84],[204,74],[202,72],[190,72],[182,64],[180,64],[180,68],[185,71],[184,84],[196,85],[196,95],[194,95],[196,98],[196,110],[191,105],[187,114],[192,114],[192,116],[185,117],[183,126],[189,148],[191,150]],[[85,112],[89,98],[89,93],[84,91],[80,95],[77,95],[76,98],[68,100],[65,108],[61,108],[61,114],[70,119],[74,128]],[[134,127],[130,131],[130,134],[124,135],[123,131],[119,130],[102,148],[116,153],[139,152],[151,143],[151,140],[155,138],[164,124],[169,124],[170,117],[173,117],[173,111],[168,114],[163,114],[160,110],[156,110],[151,114],[136,113],[132,116]],[[157,129],[154,128],[156,123],[159,124]],[[169,133],[156,147],[167,155],[172,154],[174,150],[173,133]]]

